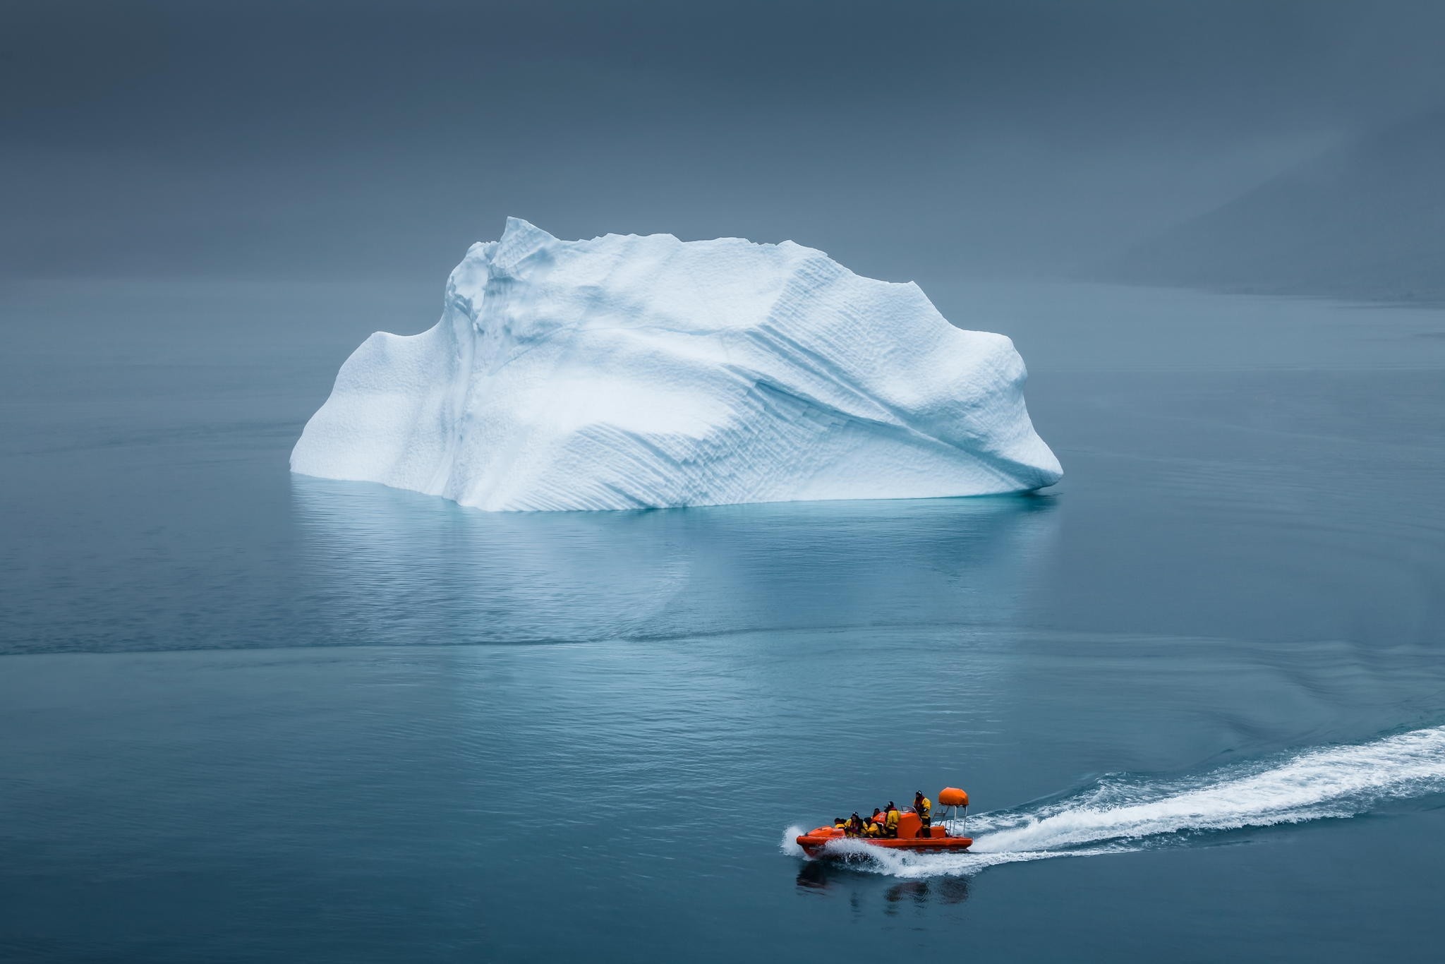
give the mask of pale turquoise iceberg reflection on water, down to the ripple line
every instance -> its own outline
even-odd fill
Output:
[[[1007,621],[1049,496],[490,513],[292,477],[332,643],[490,643]],[[318,640],[321,642],[321,640]]]

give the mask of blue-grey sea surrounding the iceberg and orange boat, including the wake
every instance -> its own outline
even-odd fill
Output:
[[[1056,489],[486,515],[286,470],[435,291],[0,292],[0,958],[1439,960],[1445,312],[928,291]]]

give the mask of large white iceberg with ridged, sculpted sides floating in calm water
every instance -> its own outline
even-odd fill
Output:
[[[442,318],[357,348],[293,473],[486,510],[920,499],[1062,475],[1013,343],[783,241],[509,218]]]

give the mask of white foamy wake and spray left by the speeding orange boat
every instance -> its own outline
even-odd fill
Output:
[[[896,877],[971,874],[1048,857],[1186,843],[1246,827],[1354,817],[1392,799],[1445,792],[1445,726],[1329,746],[1176,779],[1105,776],[1065,796],[970,817],[964,854],[909,854],[855,840],[828,844],[860,870]],[[802,854],[789,828],[785,853]]]

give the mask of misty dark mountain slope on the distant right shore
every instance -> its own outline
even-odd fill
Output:
[[[1445,299],[1445,108],[1289,171],[1107,266],[1231,291]]]

